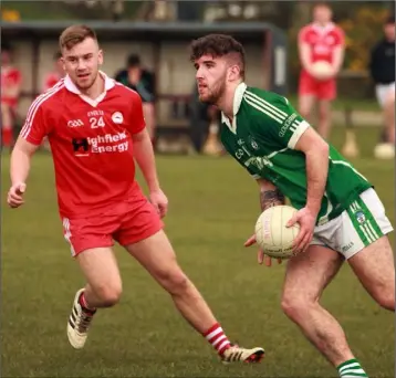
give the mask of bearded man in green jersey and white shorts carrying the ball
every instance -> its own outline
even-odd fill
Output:
[[[319,300],[344,260],[383,307],[395,309],[395,269],[386,237],[393,228],[372,185],[290,105],[244,84],[244,51],[229,35],[191,43],[201,102],[222,112],[221,141],[260,188],[261,209],[284,203],[299,211],[295,256],[289,259],[282,308],[340,377],[367,377],[343,329]],[[256,242],[251,237],[246,245]],[[259,251],[259,263],[271,259]]]

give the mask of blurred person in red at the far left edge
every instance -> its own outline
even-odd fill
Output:
[[[22,74],[12,64],[12,49],[1,44],[1,145],[12,147],[13,128],[22,84]]]

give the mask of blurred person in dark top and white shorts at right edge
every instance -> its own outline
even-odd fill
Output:
[[[369,72],[375,83],[377,101],[384,112],[383,141],[395,144],[395,17],[384,25],[384,38],[371,54]]]

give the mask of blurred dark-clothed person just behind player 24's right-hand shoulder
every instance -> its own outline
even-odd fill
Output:
[[[143,102],[143,114],[146,120],[148,134],[155,145],[155,75],[140,64],[140,59],[136,54],[131,54],[126,62],[126,70],[119,71],[115,80],[125,86],[136,91]]]

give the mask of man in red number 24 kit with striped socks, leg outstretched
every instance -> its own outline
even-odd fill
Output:
[[[140,96],[98,71],[103,52],[95,32],[73,25],[60,36],[66,76],[30,106],[11,156],[8,203],[23,203],[30,160],[49,136],[58,202],[72,255],[86,286],[77,291],[67,322],[74,348],[85,344],[97,308],[122,293],[113,240],[123,245],[170,294],[177,309],[223,361],[261,360],[262,348],[230,344],[205,300],[181,271],[160,220],[168,200],[160,189]],[[136,159],[149,201],[135,181]]]

